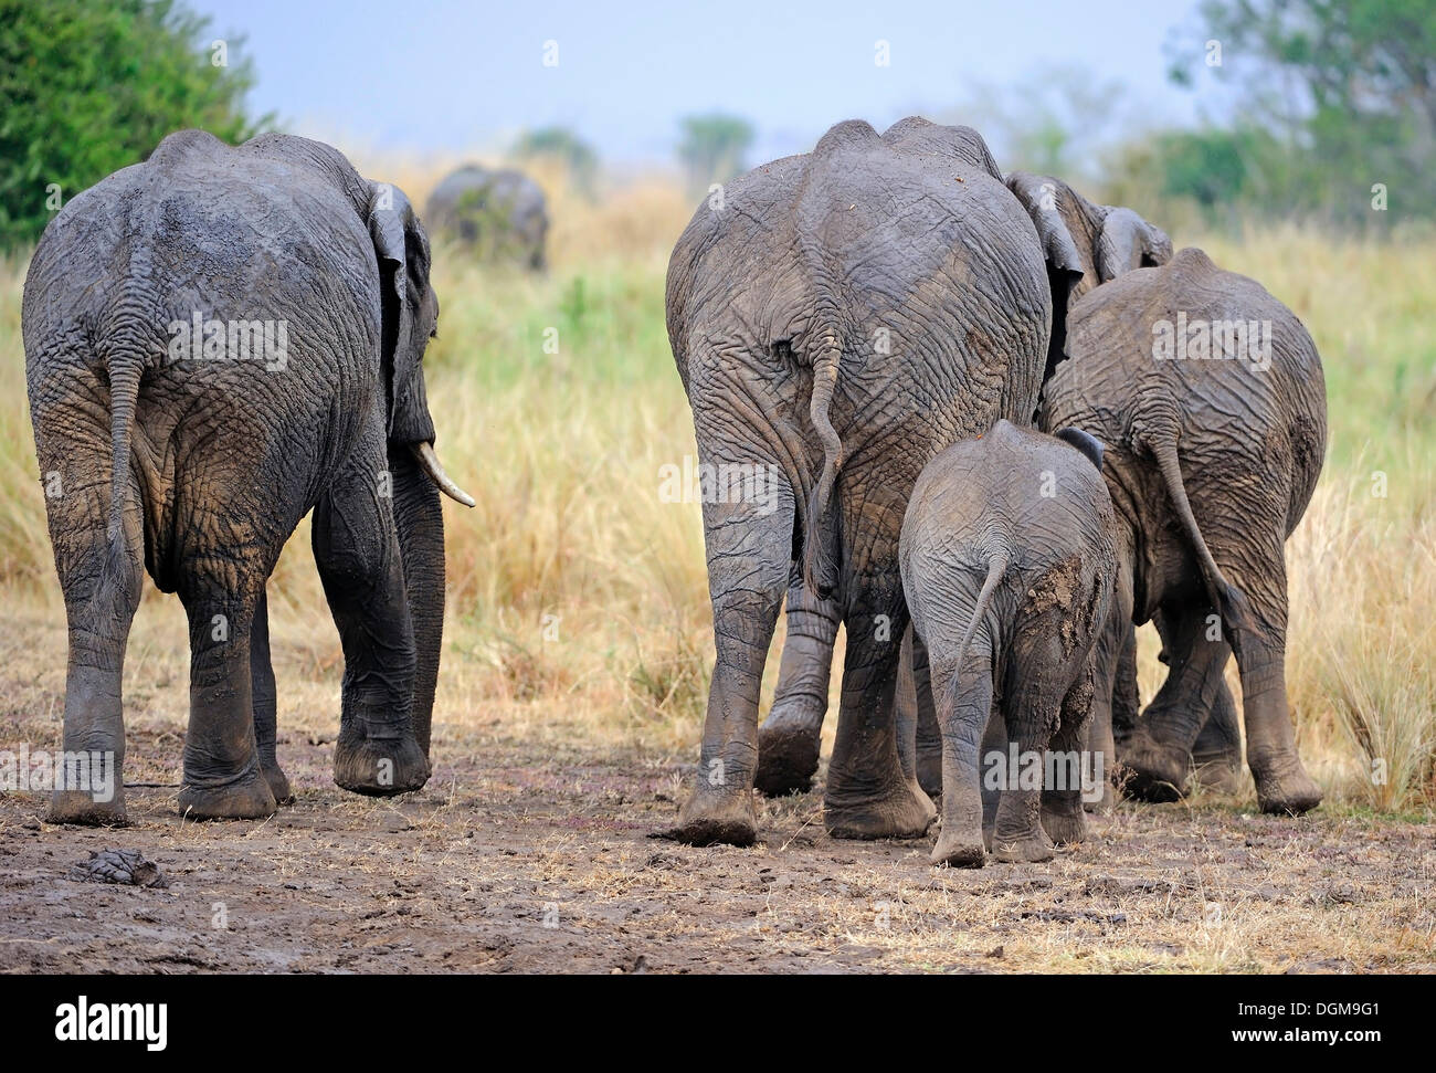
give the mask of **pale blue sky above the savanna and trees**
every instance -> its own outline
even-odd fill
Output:
[[[645,164],[671,159],[679,116],[721,109],[754,122],[764,159],[847,118],[982,126],[965,106],[984,89],[1020,108],[1054,68],[1120,82],[1139,124],[1192,122],[1203,106],[1167,82],[1163,52],[1180,30],[1196,36],[1195,0],[191,4],[217,36],[247,34],[257,111],[375,148],[498,148],[564,124],[606,161]],[[557,66],[543,63],[550,40]]]

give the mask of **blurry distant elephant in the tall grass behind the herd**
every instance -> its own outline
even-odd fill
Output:
[[[538,184],[521,171],[465,164],[434,188],[424,218],[434,234],[487,260],[536,271],[547,266],[549,204]]]

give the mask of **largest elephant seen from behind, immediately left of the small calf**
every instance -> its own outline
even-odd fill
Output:
[[[893,725],[902,517],[942,447],[1031,417],[1050,329],[1043,244],[969,128],[839,124],[694,215],[669,263],[668,332],[698,451],[773,467],[781,487],[770,513],[704,503],[718,658],[671,836],[755,837],[758,687],[800,556],[847,629],[829,830],[928,829]]]

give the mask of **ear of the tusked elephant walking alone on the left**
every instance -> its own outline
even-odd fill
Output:
[[[428,241],[402,190],[388,182],[370,182],[369,187],[369,236],[379,259],[389,438],[406,444],[432,442],[434,422],[419,373],[429,328],[419,323],[429,290]]]

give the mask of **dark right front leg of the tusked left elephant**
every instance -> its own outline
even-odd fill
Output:
[[[314,506],[312,544],[345,651],[335,783],[418,790],[429,763],[414,733],[416,654],[383,447],[360,445]]]

